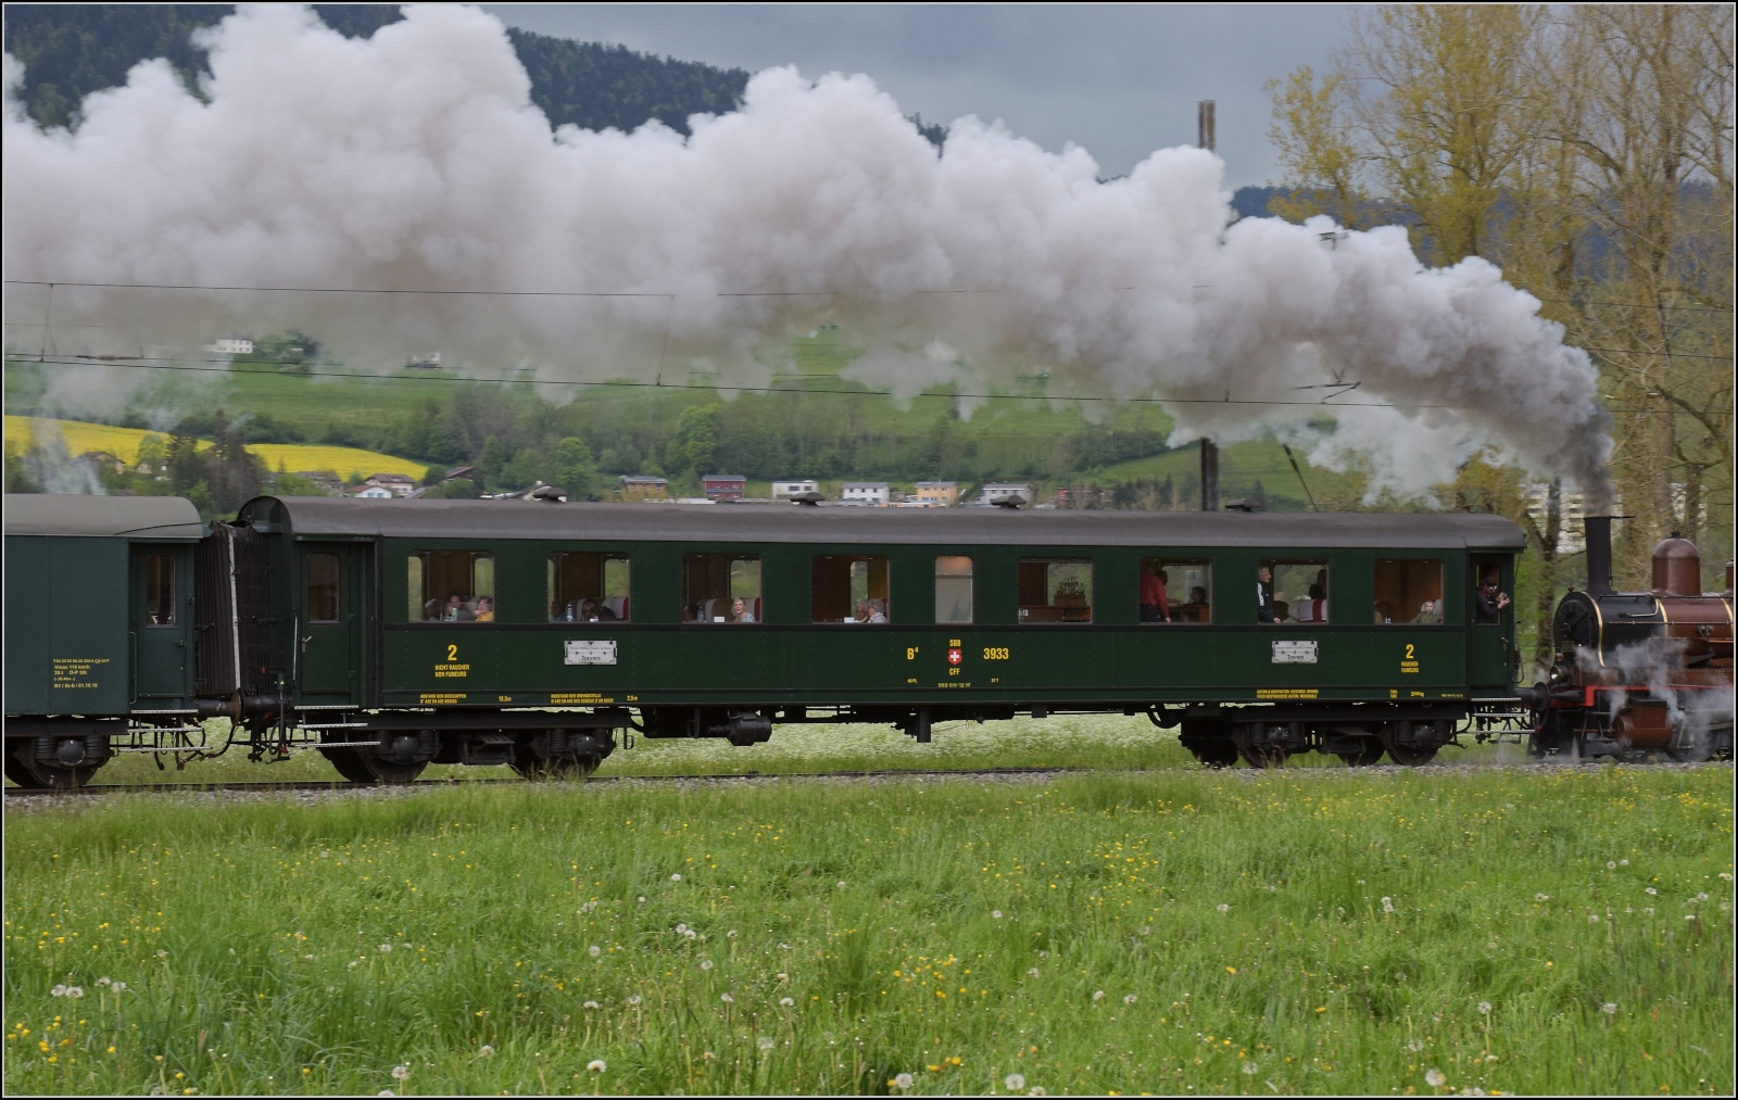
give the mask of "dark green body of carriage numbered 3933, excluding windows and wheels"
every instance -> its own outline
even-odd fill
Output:
[[[1472,572],[1512,591],[1521,532],[1472,514],[1199,514],[523,500],[259,499],[271,659],[301,706],[1147,709],[1154,704],[1429,702],[1465,712],[1510,693],[1512,622],[1474,626]],[[495,622],[410,620],[410,558],[492,556]],[[554,553],[631,561],[629,622],[549,622]],[[308,554],[342,561],[341,622],[316,633]],[[683,622],[683,556],[760,556],[763,622]],[[890,624],[815,624],[817,556],[885,556]],[[970,626],[935,624],[935,560],[975,563]],[[1211,563],[1211,624],[1144,624],[1142,558]],[[1091,561],[1091,622],[1022,624],[1022,558]],[[1257,622],[1257,565],[1326,563],[1337,615]],[[1443,624],[1376,626],[1376,561],[1443,563]],[[1343,610],[1340,610],[1343,608]],[[1366,608],[1363,613],[1354,608]],[[292,645],[290,638],[301,641]],[[614,643],[614,664],[568,664],[568,643]],[[1276,641],[1316,643],[1309,664]],[[954,659],[951,660],[951,653]]]

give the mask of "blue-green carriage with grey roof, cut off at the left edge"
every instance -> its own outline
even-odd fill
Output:
[[[195,712],[193,506],[5,497],[5,768],[78,785],[137,726]]]

